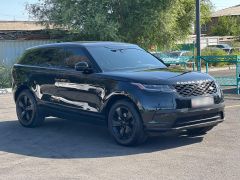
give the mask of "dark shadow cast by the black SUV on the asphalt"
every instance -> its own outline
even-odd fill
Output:
[[[187,146],[203,137],[184,135],[151,137],[136,147],[117,145],[107,128],[80,121],[47,119],[39,128],[30,129],[17,121],[0,122],[0,151],[39,158],[102,158],[151,153]]]

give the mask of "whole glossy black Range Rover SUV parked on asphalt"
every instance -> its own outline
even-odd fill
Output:
[[[19,122],[81,115],[107,122],[117,143],[144,142],[150,132],[204,134],[224,119],[216,81],[177,72],[137,45],[74,42],[28,49],[14,65]]]

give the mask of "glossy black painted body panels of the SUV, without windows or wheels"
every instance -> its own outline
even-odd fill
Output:
[[[111,46],[114,43],[60,43],[38,48],[74,46],[87,52],[86,46],[106,44]],[[12,71],[14,98],[21,90],[30,89],[46,116],[68,118],[89,115],[98,120],[107,119],[111,105],[124,98],[135,104],[149,131],[214,126],[224,119],[223,95],[219,88],[211,95],[214,105],[192,108],[192,97],[181,97],[177,92],[146,91],[132,84],[175,85],[205,79],[214,81],[207,74],[173,72],[170,68],[103,72],[91,54],[89,58],[94,64],[94,72],[89,74],[74,69],[23,65],[20,61]]]

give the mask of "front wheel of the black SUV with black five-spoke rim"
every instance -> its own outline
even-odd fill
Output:
[[[142,118],[134,104],[117,101],[108,113],[108,129],[115,141],[124,146],[142,144],[147,140]]]

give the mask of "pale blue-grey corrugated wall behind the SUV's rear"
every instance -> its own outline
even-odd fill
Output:
[[[0,40],[0,63],[11,66],[28,48],[56,42],[54,40]]]

